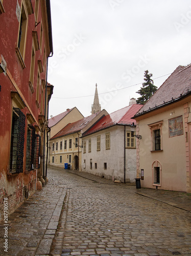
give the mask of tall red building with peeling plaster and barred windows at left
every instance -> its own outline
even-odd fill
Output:
[[[8,198],[10,214],[46,176],[50,0],[1,0],[0,24],[0,205]]]

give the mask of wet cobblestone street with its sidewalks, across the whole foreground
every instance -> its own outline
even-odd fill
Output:
[[[9,216],[9,249],[1,255],[191,255],[190,194],[48,173],[46,187]]]

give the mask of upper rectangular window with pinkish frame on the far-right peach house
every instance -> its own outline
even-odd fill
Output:
[[[149,124],[151,129],[151,152],[162,151],[162,121]]]

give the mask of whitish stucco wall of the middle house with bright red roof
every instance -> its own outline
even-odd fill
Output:
[[[105,146],[105,135],[107,133],[110,133],[109,150],[106,150]],[[101,136],[100,151],[97,151],[98,136]],[[89,139],[91,139],[91,152],[88,152]],[[124,126],[115,125],[86,136],[82,138],[82,143],[83,141],[86,141],[86,153],[83,153],[82,149],[82,172],[124,182]],[[90,169],[90,159],[92,159],[92,169]],[[97,169],[95,168],[95,163],[97,163]],[[104,169],[104,163],[107,163],[107,169]],[[136,148],[126,148],[126,182],[134,182],[135,178]]]

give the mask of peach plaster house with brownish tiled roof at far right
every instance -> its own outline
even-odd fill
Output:
[[[191,193],[191,65],[179,66],[133,117],[141,186]]]

